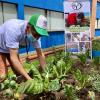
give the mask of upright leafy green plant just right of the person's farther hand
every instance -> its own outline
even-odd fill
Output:
[[[46,76],[46,73],[49,73],[48,75],[50,78],[60,79],[71,71],[72,60],[69,53],[66,54],[66,56],[63,53],[57,54],[57,58],[55,56],[50,59],[46,66],[45,73],[43,73],[43,76]]]

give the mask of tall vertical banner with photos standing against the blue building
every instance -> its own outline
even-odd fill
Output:
[[[90,1],[65,0],[65,50],[73,53],[92,51],[90,35]]]

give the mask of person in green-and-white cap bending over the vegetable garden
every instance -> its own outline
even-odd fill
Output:
[[[0,26],[0,82],[6,78],[7,61],[15,73],[26,80],[31,79],[19,59],[19,45],[32,43],[44,70],[46,61],[41,49],[41,36],[48,36],[47,19],[39,14],[33,14],[29,21],[10,19]]]

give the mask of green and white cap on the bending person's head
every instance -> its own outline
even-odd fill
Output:
[[[47,19],[43,15],[33,14],[29,20],[29,24],[35,28],[39,35],[48,36]]]

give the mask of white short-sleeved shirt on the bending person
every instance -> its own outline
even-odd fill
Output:
[[[0,52],[9,53],[9,48],[25,45],[27,21],[11,19],[0,26]],[[40,39],[33,43],[34,48],[41,48]]]

